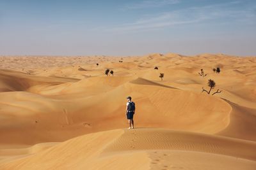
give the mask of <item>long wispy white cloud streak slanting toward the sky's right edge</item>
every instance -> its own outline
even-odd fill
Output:
[[[234,2],[239,3],[239,1]],[[116,25],[116,27],[108,29],[108,31],[144,31],[182,24],[204,23],[210,20],[227,20],[227,22],[247,20],[250,22],[255,16],[253,10],[229,8],[230,4],[234,4],[234,2],[190,7],[182,10],[158,13],[154,16],[151,15],[151,17],[147,15],[131,23]]]

